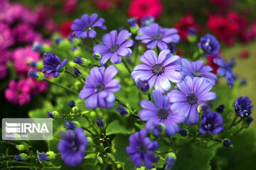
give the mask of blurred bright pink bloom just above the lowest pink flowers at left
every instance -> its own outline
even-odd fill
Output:
[[[39,60],[40,54],[34,52],[31,46],[19,47],[14,51],[14,67],[19,75],[27,76],[31,67],[30,62]]]

